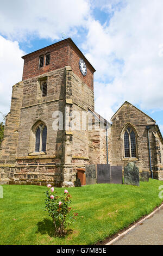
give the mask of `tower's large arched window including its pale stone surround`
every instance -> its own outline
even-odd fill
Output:
[[[47,127],[41,120],[33,125],[30,137],[30,153],[46,152]]]

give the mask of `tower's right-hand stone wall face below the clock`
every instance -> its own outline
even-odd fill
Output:
[[[65,106],[70,127],[65,131],[65,182],[76,180],[77,169],[84,169],[89,161],[87,114],[88,107],[94,108],[92,90],[73,73],[71,67],[66,67],[66,72]]]

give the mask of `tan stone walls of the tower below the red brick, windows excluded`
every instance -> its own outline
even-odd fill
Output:
[[[40,80],[44,79],[47,80],[47,96],[41,97]],[[16,154],[12,165],[2,166],[1,182],[36,185],[51,182],[62,186],[63,181],[76,180],[77,168],[83,168],[89,161],[88,131],[55,131],[53,122],[56,115],[54,118],[53,113],[60,111],[65,120],[66,107],[82,117],[83,111],[88,112],[87,107],[94,108],[92,90],[66,66],[23,81],[21,97],[18,108],[14,107],[20,118]],[[70,115],[68,118],[71,122],[75,117]],[[35,153],[31,143],[33,125],[38,121],[47,126],[46,153]]]

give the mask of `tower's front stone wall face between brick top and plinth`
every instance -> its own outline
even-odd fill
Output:
[[[47,96],[45,97],[37,97],[40,76],[24,81],[17,157],[33,153],[30,133],[38,120],[43,121],[47,126],[47,155],[61,153],[62,131],[53,130],[55,120],[53,113],[64,112],[64,69],[42,75],[44,76],[47,76]]]

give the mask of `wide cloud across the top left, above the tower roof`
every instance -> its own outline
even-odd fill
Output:
[[[0,33],[17,41],[32,36],[59,39],[62,33],[72,36],[76,27],[84,27],[89,13],[87,0],[1,1]]]

